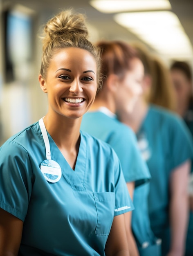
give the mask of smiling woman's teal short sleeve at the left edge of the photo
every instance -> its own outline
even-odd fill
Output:
[[[24,221],[33,174],[25,148],[13,141],[0,147],[0,207]]]

